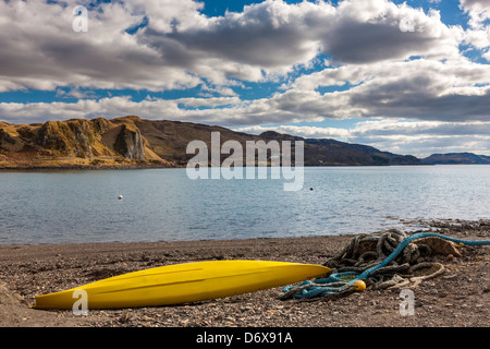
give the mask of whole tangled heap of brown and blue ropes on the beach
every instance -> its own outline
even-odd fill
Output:
[[[299,286],[287,286],[280,299],[318,299],[336,298],[354,291],[357,280],[366,281],[375,288],[401,287],[424,279],[436,277],[444,272],[444,266],[434,262],[420,262],[431,254],[427,244],[413,243],[425,238],[439,238],[446,241],[463,243],[470,246],[488,245],[490,240],[470,241],[446,237],[433,232],[419,232],[406,236],[402,229],[390,229],[382,233],[364,234],[354,238],[338,255],[324,263],[332,266],[332,273],[327,278],[305,281]],[[376,243],[376,251],[362,253],[362,244]],[[391,252],[388,256],[385,251]],[[457,253],[456,250],[454,250]],[[375,261],[368,261],[372,260]],[[413,276],[420,268],[431,267],[436,270],[429,275],[404,278],[399,273]],[[389,279],[387,280],[387,276]]]

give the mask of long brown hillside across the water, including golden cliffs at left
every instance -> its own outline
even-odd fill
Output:
[[[186,154],[187,144],[200,140],[210,148],[213,131],[220,132],[221,143],[234,140],[244,149],[246,141],[304,141],[305,166],[420,164],[414,156],[334,140],[302,139],[275,132],[252,135],[221,127],[130,116],[34,124],[0,122],[0,168],[182,167],[194,157]]]

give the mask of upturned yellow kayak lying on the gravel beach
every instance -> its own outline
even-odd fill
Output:
[[[127,273],[36,297],[36,309],[72,309],[84,290],[87,309],[182,304],[254,292],[323,276],[330,268],[302,263],[210,261]]]

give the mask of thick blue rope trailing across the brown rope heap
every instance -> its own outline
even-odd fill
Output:
[[[474,246],[490,244],[490,240],[481,240],[481,241],[462,240],[462,239],[451,238],[451,237],[446,237],[446,236],[434,233],[434,232],[414,233],[414,234],[405,238],[402,242],[400,242],[400,244],[396,246],[396,249],[383,262],[366,269],[362,274],[358,274],[355,272],[335,273],[335,274],[331,274],[328,278],[315,280],[315,285],[318,285],[318,284],[329,285],[329,284],[334,284],[334,282],[346,282],[345,285],[336,286],[336,287],[331,287],[331,286],[311,286],[311,287],[309,287],[309,285],[314,285],[314,284],[311,281],[305,281],[299,286],[301,291],[293,294],[293,297],[294,298],[315,298],[315,297],[321,297],[321,296],[327,296],[327,294],[344,291],[350,286],[353,286],[355,281],[367,279],[367,277],[371,273],[390,264],[394,258],[396,258],[399,256],[399,254],[403,251],[403,249],[406,248],[406,245],[408,243],[411,243],[414,240],[422,239],[422,238],[441,238],[441,239],[449,240],[452,242],[464,243],[464,244],[474,245]],[[284,292],[289,293],[293,289],[294,289],[294,286],[286,286],[284,288]]]

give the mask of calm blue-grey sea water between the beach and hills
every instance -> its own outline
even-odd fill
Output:
[[[185,169],[0,172],[0,244],[359,233],[489,218],[490,166],[305,168],[297,192]]]

